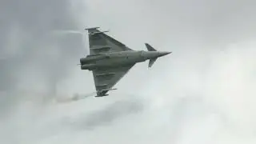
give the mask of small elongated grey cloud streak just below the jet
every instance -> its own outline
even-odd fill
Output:
[[[130,114],[140,114],[142,110],[142,101],[131,98],[114,102],[109,106],[102,107],[101,110],[81,114],[78,118],[64,119],[62,124],[75,130],[94,130],[98,126],[111,126],[114,122],[118,122],[119,118],[127,116],[129,118]]]

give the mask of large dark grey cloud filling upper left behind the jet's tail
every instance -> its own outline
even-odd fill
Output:
[[[81,35],[51,34],[52,30],[79,29],[70,2],[10,0],[2,1],[0,8],[0,90],[8,94],[1,102],[20,97],[14,92],[32,75],[42,77],[43,82],[27,83],[30,86],[26,87],[34,90],[41,83],[53,96],[84,48]]]

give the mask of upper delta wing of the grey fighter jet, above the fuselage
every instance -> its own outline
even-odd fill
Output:
[[[86,29],[89,35],[90,55],[132,50],[122,42],[100,31],[98,27]]]

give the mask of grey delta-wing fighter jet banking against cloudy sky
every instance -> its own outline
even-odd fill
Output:
[[[145,43],[148,51],[132,50],[122,42],[100,31],[99,27],[87,28],[90,54],[80,58],[81,70],[90,70],[94,75],[97,91],[95,97],[104,97],[109,90],[117,90],[113,86],[138,62],[149,61],[151,67],[157,58],[171,52],[157,51]]]

